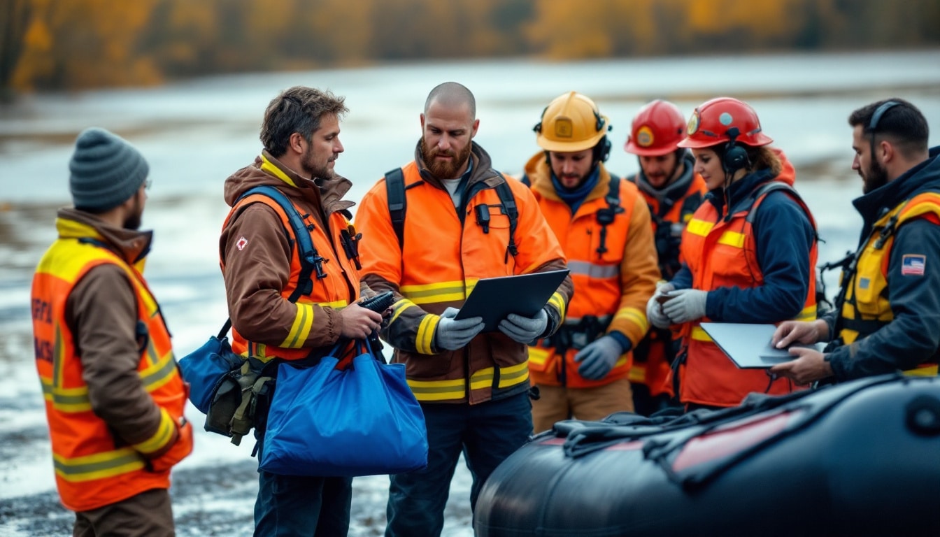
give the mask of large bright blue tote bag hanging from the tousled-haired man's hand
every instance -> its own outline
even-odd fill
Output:
[[[404,364],[385,364],[356,341],[337,370],[336,348],[314,367],[278,366],[260,468],[291,476],[395,474],[428,464],[424,413]]]

